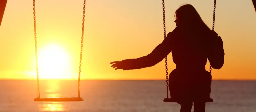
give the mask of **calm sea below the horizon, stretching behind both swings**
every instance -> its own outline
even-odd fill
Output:
[[[40,80],[41,97],[77,97],[76,80]],[[1,80],[0,112],[179,112],[164,80],[82,80],[81,102],[35,102],[36,80]],[[212,81],[206,112],[256,112],[256,81]],[[192,108],[193,109],[193,108]],[[193,110],[192,110],[193,111]]]

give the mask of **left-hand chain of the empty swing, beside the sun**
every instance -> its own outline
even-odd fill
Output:
[[[37,59],[37,41],[36,41],[36,8],[35,0],[33,0],[33,10],[34,10],[34,36],[35,36],[35,48],[36,48],[36,78],[37,78],[37,97],[40,97],[39,91],[39,76],[38,76],[38,59]]]

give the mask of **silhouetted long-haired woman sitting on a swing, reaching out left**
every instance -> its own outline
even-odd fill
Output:
[[[206,26],[196,9],[186,4],[175,12],[176,28],[147,56],[114,61],[111,67],[131,70],[152,67],[172,52],[176,68],[169,76],[171,98],[181,105],[180,112],[205,111],[205,99],[211,92],[211,74],[205,70],[207,59],[212,68],[224,63],[223,42]]]

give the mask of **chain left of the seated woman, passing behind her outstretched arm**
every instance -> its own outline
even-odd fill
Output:
[[[164,39],[165,39],[165,37],[166,37],[166,30],[165,30],[165,11],[164,11],[164,0],[162,0],[163,1],[163,20],[164,20]],[[169,87],[169,84],[168,84],[168,68],[167,68],[167,56],[165,57],[165,74],[166,74],[166,87],[167,87],[167,97],[168,97],[168,87]]]

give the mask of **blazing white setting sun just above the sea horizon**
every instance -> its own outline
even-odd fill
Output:
[[[70,78],[70,56],[61,46],[48,45],[38,51],[39,78]]]

